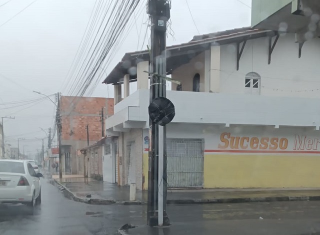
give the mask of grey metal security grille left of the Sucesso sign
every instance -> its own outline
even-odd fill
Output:
[[[167,183],[171,188],[203,187],[203,139],[167,139]]]

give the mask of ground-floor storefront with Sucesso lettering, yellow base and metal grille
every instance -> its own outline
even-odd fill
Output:
[[[319,154],[320,133],[312,128],[170,124],[167,181],[173,188],[320,187]]]

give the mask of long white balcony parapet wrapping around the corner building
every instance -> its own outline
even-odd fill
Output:
[[[167,91],[175,106],[173,123],[320,126],[320,99]],[[108,131],[147,128],[149,90],[138,90],[114,106]]]

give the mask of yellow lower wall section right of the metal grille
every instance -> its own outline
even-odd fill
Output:
[[[204,188],[320,187],[318,155],[204,155]]]

